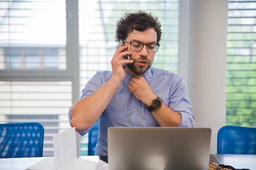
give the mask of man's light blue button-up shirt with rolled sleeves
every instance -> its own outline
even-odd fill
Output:
[[[81,98],[97,91],[103,84],[108,82],[111,76],[111,71],[98,71],[85,85]],[[195,126],[191,102],[182,82],[182,77],[175,73],[152,67],[142,76],[146,79],[153,92],[167,106],[182,115],[180,127]],[[126,73],[123,82],[99,118],[99,136],[95,155],[108,155],[107,130],[109,127],[159,126],[151,113],[146,109],[146,105],[139,101],[128,89],[128,83],[131,78],[132,75]],[[72,108],[73,106],[69,110],[69,119],[71,119]],[[91,128],[79,132],[80,135],[85,135]]]

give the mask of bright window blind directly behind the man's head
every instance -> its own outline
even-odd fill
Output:
[[[177,73],[179,1],[79,0],[81,88],[97,70],[111,70],[116,22],[126,11],[147,11],[162,24],[162,41],[153,66]]]

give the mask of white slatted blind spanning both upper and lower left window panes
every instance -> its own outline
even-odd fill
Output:
[[[72,82],[52,77],[67,69],[65,9],[65,0],[0,0],[0,123],[41,123],[44,157],[70,128]]]

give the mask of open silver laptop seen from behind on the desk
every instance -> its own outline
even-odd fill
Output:
[[[109,170],[208,170],[210,128],[110,127]]]

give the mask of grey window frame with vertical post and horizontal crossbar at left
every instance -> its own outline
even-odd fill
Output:
[[[73,103],[79,99],[79,11],[78,0],[66,0],[67,69],[65,70],[0,70],[1,81],[72,81]],[[76,46],[77,48],[73,48]]]

